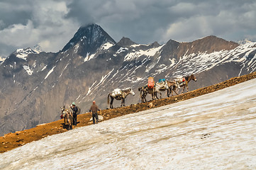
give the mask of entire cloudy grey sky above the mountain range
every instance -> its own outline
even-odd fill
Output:
[[[208,35],[256,40],[255,0],[1,0],[0,57],[39,44],[58,52],[96,23],[116,42],[191,42]]]

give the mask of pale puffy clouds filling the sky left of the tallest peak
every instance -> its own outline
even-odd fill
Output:
[[[0,16],[0,43],[8,47],[33,47],[39,43],[43,50],[57,52],[79,28],[79,24],[65,19],[68,12],[65,1],[6,1],[1,5],[0,13],[5,15]],[[0,55],[13,52],[6,53],[7,49],[0,45]]]

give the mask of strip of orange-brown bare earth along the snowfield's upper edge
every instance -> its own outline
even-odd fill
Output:
[[[189,91],[186,94],[180,94],[178,96],[172,96],[169,98],[162,98],[157,101],[149,101],[148,103],[138,103],[131,106],[126,106],[122,108],[113,108],[101,111],[104,120],[108,120],[111,118],[116,118],[121,115],[126,115],[130,113],[136,113],[139,111],[145,111],[150,108],[165,106],[167,104],[176,103],[179,101],[184,101],[189,98],[194,98],[196,96],[201,96],[203,94],[208,94],[213,91],[218,91],[220,89],[224,89],[228,86],[233,86],[235,84],[242,83],[244,81],[255,79],[256,72],[251,74],[247,74],[241,77],[234,77],[232,79],[228,79],[227,81],[223,81],[219,84],[214,84],[212,86],[207,86],[201,89],[196,89],[194,91]],[[91,125],[89,122],[91,118],[91,114],[84,113],[77,116],[77,127]],[[74,127],[74,128],[77,128]],[[33,142],[35,140],[40,140],[49,135],[55,135],[58,133],[66,132],[67,127],[64,125],[64,120],[57,120],[52,123],[45,123],[42,125],[38,125],[35,128],[31,128],[29,130],[17,131],[14,133],[8,133],[3,137],[0,137],[0,153],[9,151],[16,147],[20,147],[22,145],[26,145],[29,142]]]

